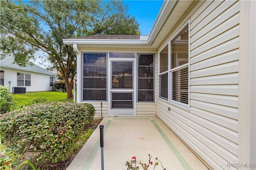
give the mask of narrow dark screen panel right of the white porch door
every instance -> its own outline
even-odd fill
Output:
[[[154,54],[138,54],[138,102],[154,102]]]

